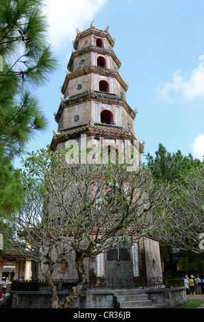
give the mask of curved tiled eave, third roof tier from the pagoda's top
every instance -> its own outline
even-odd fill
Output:
[[[91,66],[84,67],[84,69],[79,69],[77,71],[74,71],[73,73],[67,74],[64,79],[64,84],[62,85],[62,89],[61,89],[62,94],[64,95],[64,92],[66,90],[66,86],[71,79],[73,79],[75,77],[82,76],[82,75],[86,75],[89,73],[96,73],[96,72],[97,73],[100,72],[101,75],[105,75],[105,76],[110,75],[110,76],[116,77],[116,79],[118,80],[120,85],[123,87],[125,92],[127,92],[128,86],[124,82],[123,78],[119,75],[118,71],[114,71],[113,69],[105,69],[104,67],[100,67],[100,66],[91,65]]]

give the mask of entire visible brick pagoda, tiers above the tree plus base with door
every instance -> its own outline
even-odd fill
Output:
[[[141,162],[144,144],[135,137],[136,110],[132,110],[126,101],[128,84],[120,77],[121,62],[114,53],[114,42],[108,27],[100,30],[92,23],[84,32],[77,29],[61,88],[61,103],[58,112],[54,113],[58,130],[53,129],[52,151],[68,147],[73,140],[80,145],[81,136],[86,136],[87,147],[98,145],[118,152],[124,151],[131,142],[138,150]],[[68,256],[68,270],[59,269],[53,278],[77,277],[74,258]],[[149,239],[101,253],[94,260],[86,258],[85,267],[90,277],[162,276],[159,244]]]

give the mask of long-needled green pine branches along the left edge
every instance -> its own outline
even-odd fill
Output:
[[[34,134],[47,129],[47,119],[33,95],[34,88],[44,85],[58,66],[47,43],[44,1],[0,1],[0,55],[3,58],[3,71],[0,69],[2,216],[14,211],[23,199],[12,160],[25,152],[25,145]]]

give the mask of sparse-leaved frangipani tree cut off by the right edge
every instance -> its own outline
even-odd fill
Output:
[[[176,202],[169,204],[172,214],[169,231],[160,233],[166,243],[201,253],[204,249],[204,166],[186,172],[175,182]]]

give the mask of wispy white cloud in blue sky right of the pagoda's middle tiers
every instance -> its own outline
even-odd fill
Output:
[[[199,60],[203,60],[203,58],[204,55],[201,55]],[[189,80],[183,78],[181,71],[175,71],[172,82],[158,86],[157,90],[160,92],[160,96],[168,101],[178,94],[188,101],[196,97],[204,97],[203,62],[191,72]]]

